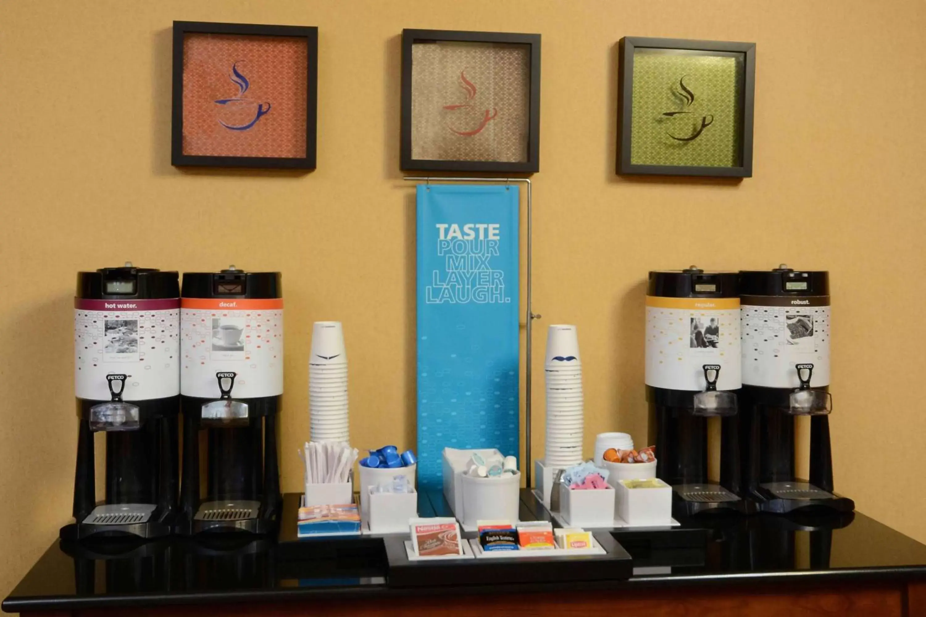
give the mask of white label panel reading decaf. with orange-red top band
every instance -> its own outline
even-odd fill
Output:
[[[282,299],[183,298],[181,393],[218,399],[217,373],[234,372],[232,398],[283,392]]]

